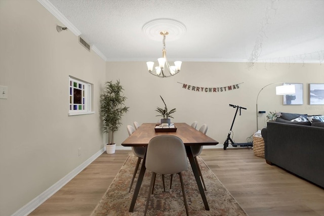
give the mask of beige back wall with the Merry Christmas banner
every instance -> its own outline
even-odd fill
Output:
[[[156,106],[163,107],[161,95],[169,109],[177,108],[174,122],[191,124],[198,121],[199,128],[207,123],[207,135],[219,141],[223,147],[236,109],[234,104],[246,107],[237,114],[232,131],[236,143],[245,143],[256,131],[256,99],[259,91],[272,82],[296,82],[304,84],[303,105],[282,105],[282,96],[275,95],[276,85],[262,90],[258,100],[259,110],[324,114],[323,105],[308,105],[308,83],[324,83],[324,65],[320,64],[256,64],[248,69],[247,63],[183,62],[182,71],[169,78],[158,78],[147,72],[145,62],[107,62],[107,79],[120,79],[124,86],[126,105],[129,112],[123,119],[123,125],[115,135],[117,145],[127,137],[126,125],[134,121],[156,122]],[[223,87],[239,84],[239,89],[205,93],[182,88],[186,83],[198,87]],[[266,114],[267,114],[266,113]],[[265,123],[266,114],[260,115],[259,129]],[[230,145],[231,147],[231,145]]]

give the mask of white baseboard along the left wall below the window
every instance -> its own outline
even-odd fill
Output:
[[[33,210],[35,210],[39,205],[41,205],[43,202],[45,202],[48,198],[50,198],[53,194],[55,194],[58,190],[60,190],[69,181],[71,181],[77,174],[79,174],[79,172],[81,172],[90,163],[92,163],[104,151],[105,151],[105,149],[102,148],[96,154],[94,154],[93,156],[91,156],[88,160],[86,160],[85,162],[83,162],[82,164],[80,164],[79,166],[77,166],[75,169],[73,169],[65,177],[63,177],[58,182],[56,182],[54,185],[52,185],[51,187],[49,187],[42,194],[39,194],[33,200],[31,200],[26,205],[24,205],[23,207],[21,207],[18,211],[16,211],[15,213],[13,213],[12,216],[25,216],[25,215],[28,215],[30,212],[32,212]]]

